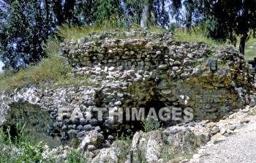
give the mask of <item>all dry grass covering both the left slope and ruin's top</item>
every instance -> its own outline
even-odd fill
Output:
[[[59,88],[61,86],[99,86],[99,83],[93,83],[89,79],[89,76],[74,76],[72,75],[72,67],[65,63],[64,58],[60,57],[61,48],[59,46],[61,41],[68,39],[79,39],[86,37],[89,34],[94,34],[102,31],[117,30],[111,26],[69,26],[64,24],[59,27],[59,31],[56,31],[56,37],[48,39],[45,42],[45,53],[48,54],[48,58],[42,58],[35,66],[29,66],[24,69],[20,69],[19,72],[10,72],[5,70],[0,73],[0,91],[8,89],[22,88],[28,83],[36,83],[38,86],[44,88]],[[118,31],[138,30],[139,26],[132,26],[130,29],[118,28]],[[170,32],[166,29],[159,28],[157,26],[148,26],[146,31],[151,32]],[[191,35],[186,34],[184,31],[174,31],[173,37],[177,41],[203,41],[209,45],[217,45],[217,42],[213,42],[211,39],[199,36],[195,32]],[[121,37],[121,36],[118,36]],[[60,40],[61,39],[61,40]]]

